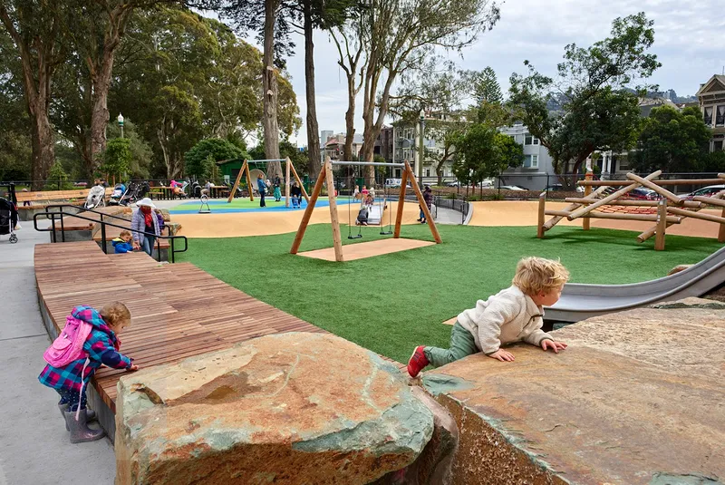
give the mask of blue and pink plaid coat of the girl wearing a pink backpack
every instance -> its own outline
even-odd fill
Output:
[[[101,314],[90,306],[76,306],[71,312],[73,318],[77,318],[93,325],[91,334],[83,344],[83,350],[88,353],[90,363],[85,368],[85,375],[81,376],[85,358],[73,361],[63,367],[45,365],[43,372],[38,376],[40,383],[53,387],[53,389],[64,389],[75,392],[81,391],[83,381],[88,382],[96,369],[101,364],[106,364],[114,369],[129,369],[131,359],[121,354],[118,349],[121,342],[116,334],[103,321]]]

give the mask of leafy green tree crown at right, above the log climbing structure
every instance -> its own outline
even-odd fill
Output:
[[[624,88],[660,67],[657,56],[648,53],[653,42],[653,22],[644,13],[616,18],[604,40],[587,48],[565,46],[556,80],[537,73],[528,61],[526,75],[511,75],[510,105],[549,151],[556,173],[577,173],[594,150],[633,146],[638,97]],[[549,109],[550,102],[556,109]]]

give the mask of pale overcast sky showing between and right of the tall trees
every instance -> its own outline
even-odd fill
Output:
[[[504,92],[511,73],[523,73],[528,59],[541,73],[556,73],[565,44],[588,46],[609,34],[617,16],[644,11],[654,20],[654,45],[662,67],[650,82],[662,91],[673,89],[679,96],[697,92],[701,82],[722,73],[725,49],[721,44],[725,16],[721,2],[701,0],[507,0],[501,5],[501,19],[493,30],[482,34],[478,42],[463,52],[451,54],[461,67],[481,70],[491,66]],[[252,41],[252,39],[248,39]],[[304,39],[295,37],[296,53],[287,62],[304,122]],[[337,50],[324,33],[315,34],[315,85],[317,119],[320,130],[344,131],[347,92],[344,73],[336,63]],[[355,113],[355,128],[362,132],[360,106]],[[306,145],[303,125],[297,135]]]

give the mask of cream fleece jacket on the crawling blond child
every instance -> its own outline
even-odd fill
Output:
[[[542,340],[554,340],[541,330],[544,310],[517,286],[509,286],[488,300],[478,300],[476,307],[458,316],[459,324],[468,330],[476,346],[484,354],[498,351],[502,344],[524,341],[540,345]]]

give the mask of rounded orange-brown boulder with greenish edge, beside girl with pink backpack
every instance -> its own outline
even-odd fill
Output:
[[[364,484],[415,461],[432,431],[378,355],[267,335],[121,378],[116,483]]]

